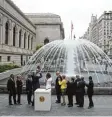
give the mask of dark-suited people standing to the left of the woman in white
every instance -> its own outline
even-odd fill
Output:
[[[39,79],[42,78],[42,73],[40,72],[40,67],[37,66],[36,72],[28,75],[26,80],[26,93],[27,93],[27,101],[28,104],[32,104],[34,106],[34,97],[32,100],[32,95],[37,88],[40,88]],[[9,92],[9,105],[12,104],[12,97],[14,104],[21,105],[21,94],[22,94],[22,78],[21,76],[17,76],[17,80],[15,82],[14,75],[11,74],[10,78],[7,82],[7,89]],[[16,96],[17,95],[17,96]],[[16,100],[17,97],[17,100]]]

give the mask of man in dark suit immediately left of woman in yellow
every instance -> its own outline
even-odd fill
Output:
[[[56,95],[57,95],[57,100],[56,103],[61,103],[61,87],[59,85],[59,80],[62,80],[60,72],[56,72],[56,81],[55,81],[55,90],[56,90]]]

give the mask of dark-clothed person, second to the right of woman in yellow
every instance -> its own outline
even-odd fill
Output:
[[[80,81],[80,76],[76,75],[76,80],[75,80],[75,97],[76,97],[76,103],[77,105],[79,105],[79,98],[80,98],[80,89],[78,87],[78,83]]]

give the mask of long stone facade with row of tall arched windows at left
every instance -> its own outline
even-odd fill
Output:
[[[33,54],[36,27],[10,0],[0,2],[0,64],[24,65]],[[4,8],[5,5],[7,7]],[[12,10],[13,9],[13,10]],[[33,45],[32,45],[33,46]],[[8,59],[10,58],[10,60]]]

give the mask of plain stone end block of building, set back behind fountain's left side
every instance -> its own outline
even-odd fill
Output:
[[[26,14],[26,16],[36,26],[37,44],[46,44],[48,42],[64,39],[63,23],[59,15],[51,13]]]

